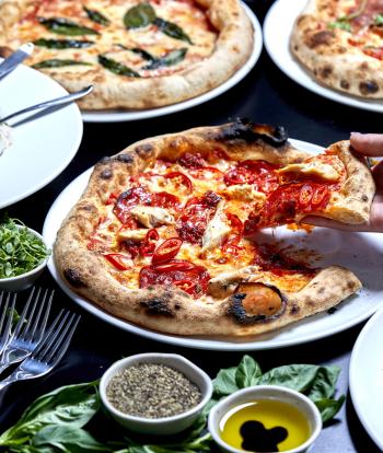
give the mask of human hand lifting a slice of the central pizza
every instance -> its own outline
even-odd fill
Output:
[[[383,156],[383,133],[351,132],[351,147],[360,154],[376,158]],[[383,233],[383,161],[372,169],[376,184],[376,194],[372,201],[370,220],[368,223],[350,225],[324,219],[323,217],[307,216],[302,221],[316,226],[335,228],[345,231],[374,231]]]

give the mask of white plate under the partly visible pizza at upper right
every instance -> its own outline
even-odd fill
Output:
[[[264,23],[264,39],[272,61],[294,82],[321,96],[352,107],[382,113],[382,100],[362,100],[322,86],[293,58],[289,49],[290,34],[297,16],[306,3],[307,0],[277,0],[268,11]]]

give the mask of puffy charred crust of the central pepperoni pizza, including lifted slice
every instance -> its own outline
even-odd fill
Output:
[[[97,224],[100,208],[108,194],[124,190],[129,177],[144,170],[156,158],[174,160],[186,151],[196,150],[205,154],[218,144],[236,160],[263,159],[287,165],[309,156],[287,142],[281,129],[269,130],[239,121],[150,138],[105,158],[96,164],[86,190],[62,223],[55,244],[57,266],[76,292],[108,313],[155,330],[179,335],[246,336],[270,332],[328,310],[361,287],[350,270],[339,266],[318,271],[295,292],[276,288],[275,281],[256,267],[242,269],[229,276],[229,280],[212,279],[214,281],[210,283],[214,288],[198,300],[175,287],[128,289],[113,278],[103,256],[86,247],[88,239]],[[340,142],[337,147],[340,147],[339,153],[347,154],[345,160],[349,177],[345,186],[349,188],[329,214],[335,218],[341,207],[351,204],[352,209],[348,209],[344,219],[363,221],[367,217],[364,207],[369,209],[373,197],[371,175],[365,172],[365,164],[349,151],[348,142]],[[363,183],[364,179],[369,183]],[[362,184],[361,187],[359,184]],[[227,292],[233,281],[263,283],[270,288],[280,298],[277,313],[270,316],[247,313],[243,304],[246,293]]]

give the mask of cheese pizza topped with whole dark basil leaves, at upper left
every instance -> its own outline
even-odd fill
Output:
[[[249,57],[239,0],[0,0],[0,56],[33,42],[32,67],[82,108],[151,108],[205,93]]]

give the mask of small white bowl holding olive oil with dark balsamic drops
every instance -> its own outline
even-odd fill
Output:
[[[219,434],[219,426],[222,417],[224,417],[224,415],[227,415],[231,409],[236,406],[254,402],[256,399],[276,399],[282,403],[287,403],[291,406],[294,406],[306,417],[311,429],[310,438],[304,443],[302,443],[302,445],[299,445],[292,450],[288,450],[285,453],[303,453],[306,452],[310,446],[312,446],[322,429],[321,413],[315,404],[305,395],[302,395],[301,393],[287,387],[281,387],[279,385],[256,385],[254,387],[243,388],[233,393],[227,398],[220,400],[210,409],[208,420],[209,431],[221,451],[227,453],[244,452],[244,450],[235,449],[222,440]]]

